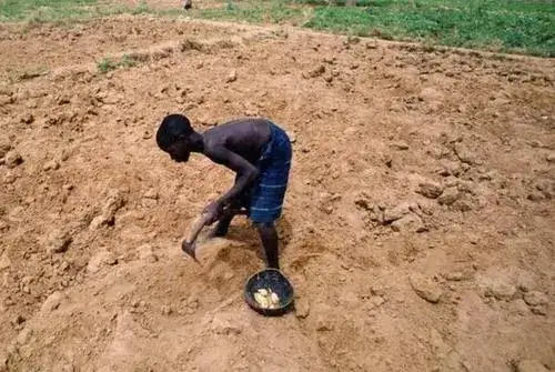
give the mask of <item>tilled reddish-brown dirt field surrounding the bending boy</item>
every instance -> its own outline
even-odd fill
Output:
[[[555,61],[115,18],[0,27],[0,371],[555,370]],[[102,74],[95,61],[130,54]],[[153,132],[264,115],[294,139],[295,312],[242,300],[233,175]]]

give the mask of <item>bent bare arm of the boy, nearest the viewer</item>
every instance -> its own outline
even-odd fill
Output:
[[[241,195],[243,191],[256,179],[259,170],[246,161],[243,157],[228,150],[223,145],[210,148],[206,155],[214,162],[225,165],[238,174],[233,187],[224,193],[219,200],[206,208],[206,212],[212,214],[209,223],[214,222],[220,214],[221,209]]]

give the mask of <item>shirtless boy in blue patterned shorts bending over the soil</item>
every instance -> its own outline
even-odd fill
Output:
[[[274,221],[282,213],[292,158],[285,131],[265,119],[244,118],[199,133],[186,117],[170,114],[158,129],[157,143],[176,162],[199,152],[236,173],[233,187],[204,209],[206,224],[219,221],[213,234],[223,237],[234,217],[224,211],[245,208],[259,231],[268,267],[279,269]]]

